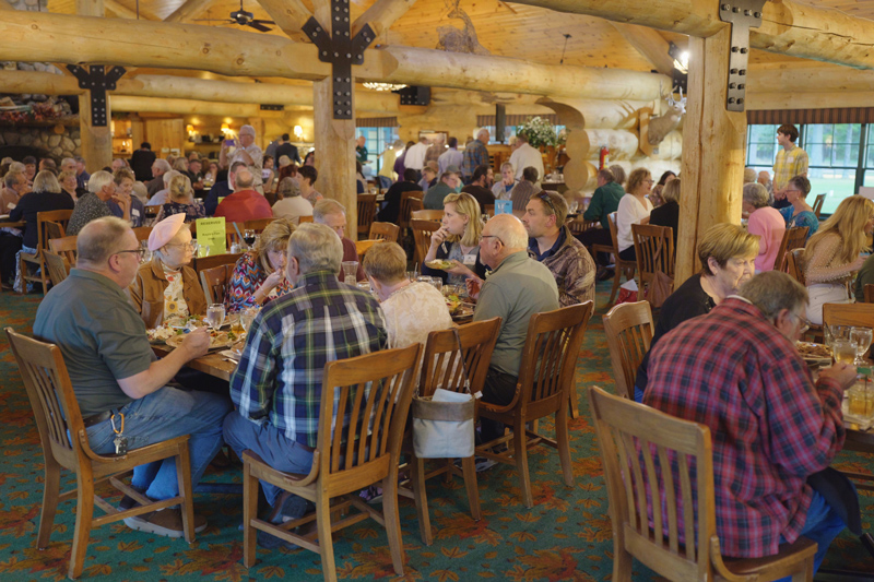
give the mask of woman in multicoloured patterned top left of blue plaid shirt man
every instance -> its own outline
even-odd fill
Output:
[[[276,218],[264,228],[255,249],[237,260],[225,292],[225,308],[235,313],[292,290],[285,278],[286,249],[295,226],[287,218]]]

